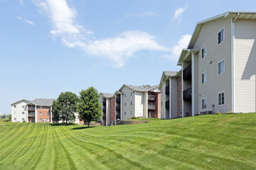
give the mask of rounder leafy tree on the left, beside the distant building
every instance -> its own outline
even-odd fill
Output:
[[[74,121],[78,99],[75,93],[69,91],[61,93],[52,105],[54,121],[64,121],[65,124]]]

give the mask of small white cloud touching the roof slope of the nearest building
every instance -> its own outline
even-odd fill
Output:
[[[164,55],[164,58],[178,61],[178,58],[182,53],[182,49],[188,48],[190,39],[191,39],[191,35],[189,34],[183,35],[175,44],[175,46],[171,47],[171,55]]]

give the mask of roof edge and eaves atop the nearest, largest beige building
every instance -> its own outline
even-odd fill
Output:
[[[202,28],[202,25],[208,22],[213,22],[217,19],[256,19],[256,12],[225,12],[223,14],[213,16],[209,19],[202,20],[201,22],[197,22],[195,30],[192,34],[192,38],[190,39],[188,49],[193,48],[195,39],[199,35],[199,31]]]

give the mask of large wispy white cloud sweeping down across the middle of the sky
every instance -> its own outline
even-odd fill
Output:
[[[155,37],[147,32],[128,31],[109,39],[96,39],[90,36],[92,31],[77,24],[77,13],[65,0],[33,2],[51,19],[54,29],[50,33],[60,38],[64,46],[80,47],[85,53],[110,59],[114,62],[112,66],[123,66],[127,59],[140,50],[168,51],[168,48],[159,45]]]

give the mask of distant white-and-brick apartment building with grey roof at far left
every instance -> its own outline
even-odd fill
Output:
[[[52,122],[51,105],[54,99],[19,100],[12,106],[12,122]]]

